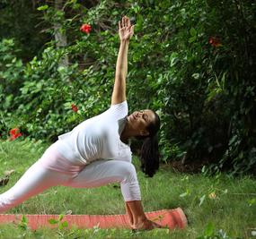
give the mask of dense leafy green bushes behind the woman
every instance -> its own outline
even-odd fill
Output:
[[[58,24],[67,45],[52,40],[24,65],[14,41],[1,42],[2,134],[19,126],[30,137],[52,141],[109,107],[117,25],[127,14],[136,24],[128,56],[129,109],[152,108],[161,116],[163,161],[207,159],[213,166],[205,173],[253,172],[255,7],[236,0],[66,1],[63,12],[41,3],[43,24]],[[90,34],[79,31],[82,23],[91,24]],[[56,33],[53,27],[46,32],[52,38]],[[66,66],[60,64],[65,56]]]

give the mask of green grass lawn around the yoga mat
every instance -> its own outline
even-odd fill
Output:
[[[0,141],[0,175],[4,175],[5,170],[15,170],[9,184],[0,187],[0,193],[10,188],[46,148],[40,141]],[[190,223],[186,229],[132,233],[97,227],[42,228],[32,232],[21,226],[1,225],[0,238],[198,238],[200,235],[215,238],[214,235],[221,234],[216,238],[256,238],[251,233],[253,228],[256,231],[256,180],[252,177],[188,175],[173,172],[170,166],[161,166],[154,178],[146,178],[138,169],[137,158],[134,159],[145,210],[181,207]],[[8,213],[65,214],[71,210],[72,214],[124,214],[124,202],[117,185],[93,189],[54,187]],[[213,192],[216,197],[210,198]],[[229,237],[225,237],[225,233]]]

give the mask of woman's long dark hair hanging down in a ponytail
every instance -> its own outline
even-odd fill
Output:
[[[141,170],[150,177],[153,177],[159,168],[157,132],[160,129],[160,118],[154,111],[152,112],[155,120],[146,128],[149,135],[137,137],[137,139],[144,140],[140,151]]]

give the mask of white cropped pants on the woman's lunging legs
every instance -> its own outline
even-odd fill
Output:
[[[48,150],[47,150],[48,151]],[[0,213],[29,199],[52,186],[64,185],[75,188],[98,187],[110,183],[120,183],[125,201],[140,201],[140,190],[135,167],[126,161],[97,160],[81,168],[80,172],[70,173],[70,167],[64,164],[61,170],[55,171],[43,166],[48,160],[48,153],[32,165],[13,187],[0,194]],[[57,158],[57,157],[55,157]],[[53,160],[53,165],[59,160]],[[64,171],[64,167],[66,172]],[[72,167],[72,166],[71,166]]]

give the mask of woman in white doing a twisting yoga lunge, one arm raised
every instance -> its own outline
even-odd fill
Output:
[[[128,145],[130,138],[144,140],[142,170],[153,176],[159,166],[156,139],[159,117],[148,109],[128,115],[126,101],[128,44],[133,30],[134,25],[130,24],[128,17],[119,21],[120,46],[111,107],[101,115],[78,124],[71,132],[58,136],[58,141],[22,178],[0,195],[0,213],[52,186],[89,188],[118,182],[130,226],[134,229],[160,227],[148,220],[144,213]]]

